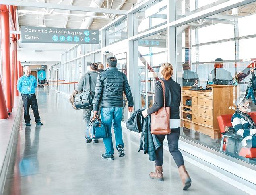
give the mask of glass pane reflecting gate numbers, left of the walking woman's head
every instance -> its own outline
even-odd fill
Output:
[[[167,31],[151,35],[138,43],[138,79],[140,108],[149,108],[154,103],[155,82],[159,80],[159,68],[167,62]]]

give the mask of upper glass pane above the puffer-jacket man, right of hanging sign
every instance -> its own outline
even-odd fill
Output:
[[[106,30],[106,45],[127,39],[127,18]]]

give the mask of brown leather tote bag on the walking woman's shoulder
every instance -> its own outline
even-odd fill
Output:
[[[165,84],[162,80],[163,88],[163,107],[151,114],[150,133],[154,135],[167,135],[170,129],[170,107],[165,106]]]

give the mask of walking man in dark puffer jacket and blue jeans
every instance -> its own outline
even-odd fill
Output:
[[[101,120],[107,126],[108,137],[103,138],[106,153],[101,155],[101,158],[107,160],[114,160],[111,133],[112,123],[119,157],[125,156],[121,127],[123,91],[128,101],[128,111],[133,111],[133,97],[128,80],[123,72],[118,71],[116,64],[116,57],[107,58],[107,70],[100,73],[97,78],[93,99],[93,118],[95,118],[99,111],[99,105],[101,103]]]

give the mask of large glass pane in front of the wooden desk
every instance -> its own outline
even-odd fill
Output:
[[[206,1],[198,3],[206,5]],[[250,109],[256,111],[249,71],[256,67],[254,6],[256,2],[176,28],[182,137],[219,151],[223,129],[217,117],[233,115],[244,97],[252,98]],[[231,138],[226,139],[223,152],[246,160],[239,156],[242,142],[235,144],[238,154],[230,143]]]

